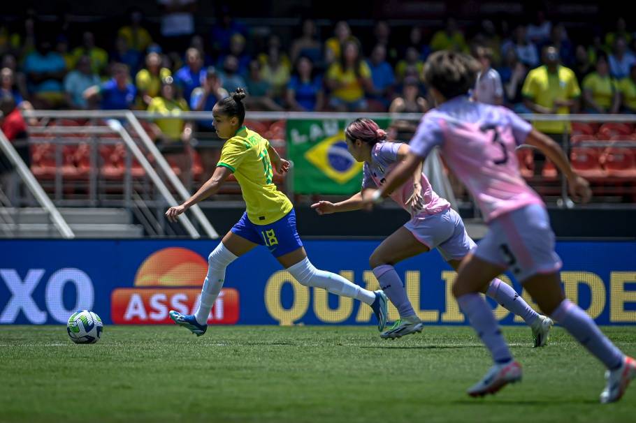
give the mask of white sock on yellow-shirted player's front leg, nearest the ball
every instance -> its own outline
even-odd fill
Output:
[[[201,289],[201,303],[198,305],[196,313],[194,313],[194,318],[196,318],[199,325],[208,323],[210,310],[212,310],[212,306],[225,281],[225,268],[236,258],[236,255],[225,248],[223,243],[219,244],[208,255],[208,275],[205,276],[203,289]]]

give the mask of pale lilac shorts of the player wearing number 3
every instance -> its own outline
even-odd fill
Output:
[[[509,268],[519,282],[535,274],[558,272],[562,264],[554,251],[550,219],[540,205],[528,205],[493,219],[475,255]]]

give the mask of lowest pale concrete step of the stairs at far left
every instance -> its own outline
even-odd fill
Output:
[[[78,238],[140,238],[143,237],[141,225],[121,223],[73,223],[69,224]],[[0,237],[5,238],[58,238],[55,225],[47,223],[0,223]]]

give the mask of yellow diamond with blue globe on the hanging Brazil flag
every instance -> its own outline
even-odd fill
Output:
[[[345,184],[359,175],[363,166],[349,154],[344,131],[316,144],[305,152],[305,158],[338,184]]]

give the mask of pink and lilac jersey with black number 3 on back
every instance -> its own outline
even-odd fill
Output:
[[[424,114],[410,147],[426,157],[439,145],[488,222],[526,205],[544,205],[521,177],[515,154],[531,129],[505,107],[458,97]]]

